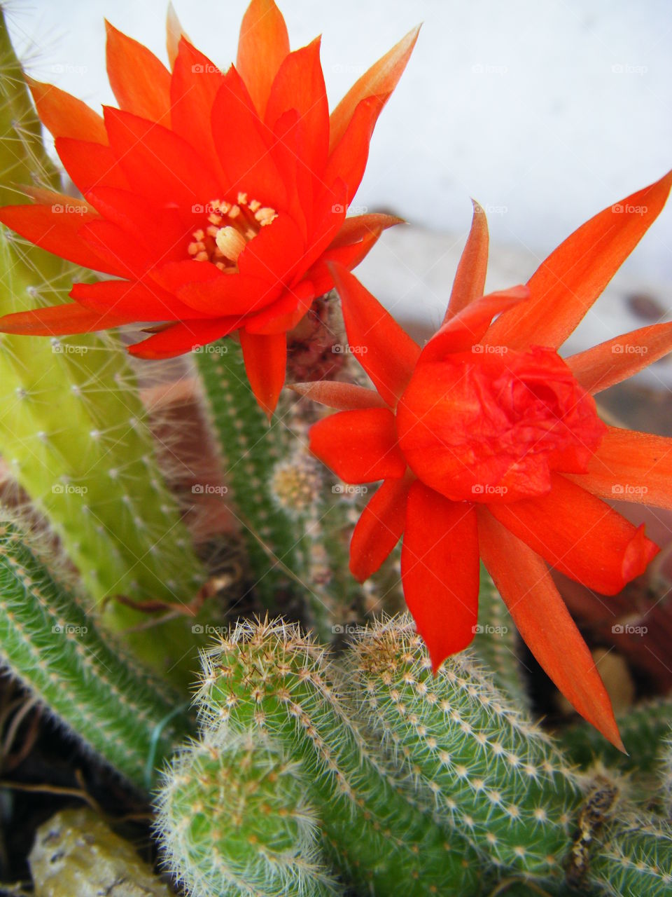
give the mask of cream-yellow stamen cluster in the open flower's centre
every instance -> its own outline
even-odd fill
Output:
[[[225,274],[237,272],[238,256],[247,243],[278,217],[258,199],[248,201],[246,193],[239,193],[236,203],[211,199],[205,208],[208,223],[193,232],[186,251],[194,261],[212,262]]]

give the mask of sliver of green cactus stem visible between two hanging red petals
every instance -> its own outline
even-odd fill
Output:
[[[522,707],[530,706],[521,663],[521,640],[513,618],[490,574],[481,564],[478,591],[478,631],[473,647],[495,676],[495,685]]]

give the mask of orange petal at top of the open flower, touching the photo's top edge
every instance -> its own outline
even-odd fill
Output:
[[[273,0],[252,0],[240,25],[236,67],[260,118],[266,111],[271,84],[289,54],[289,36]]]

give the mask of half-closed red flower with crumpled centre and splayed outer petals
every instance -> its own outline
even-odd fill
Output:
[[[434,666],[473,638],[482,558],[538,662],[619,747],[607,692],[547,564],[614,595],[658,552],[643,527],[601,500],[617,494],[672,508],[672,440],[607,427],[592,394],[667,353],[672,324],[566,360],[557,348],[671,183],[672,173],[599,213],[527,285],[488,296],[487,223],[475,205],[444,324],[422,350],[333,266],[349,344],[375,391],[294,387],[340,411],[314,424],[314,454],[347,483],[383,480],[355,527],[350,570],[371,576],[403,536],[404,594]]]

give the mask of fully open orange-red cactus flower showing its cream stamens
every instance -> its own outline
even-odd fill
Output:
[[[42,248],[118,278],[75,283],[73,303],[19,312],[6,333],[63,335],[153,322],[130,351],[165,358],[237,332],[260,405],[285,379],[286,333],[356,266],[383,214],[346,218],[376,119],[418,36],[378,60],[330,115],[320,40],[289,51],[273,0],[252,0],[226,73],[168,18],[171,70],[108,25],[119,104],[103,118],[30,82],[39,117],[83,201],[27,188],[0,222]]]

